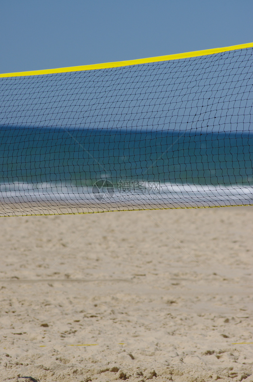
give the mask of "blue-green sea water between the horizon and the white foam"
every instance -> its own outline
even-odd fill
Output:
[[[0,129],[0,184],[100,178],[195,185],[252,185],[253,134],[119,133]]]

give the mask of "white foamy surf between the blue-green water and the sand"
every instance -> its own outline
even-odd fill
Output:
[[[0,185],[0,204],[18,207],[36,206],[94,207],[207,207],[253,204],[253,188],[250,186],[176,185],[148,183],[144,189],[103,189],[94,193],[91,186],[48,183],[11,183]]]

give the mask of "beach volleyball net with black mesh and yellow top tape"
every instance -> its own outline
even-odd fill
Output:
[[[0,75],[0,216],[253,204],[253,44]]]

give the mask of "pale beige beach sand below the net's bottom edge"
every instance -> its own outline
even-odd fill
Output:
[[[1,380],[253,381],[252,212],[1,218]]]

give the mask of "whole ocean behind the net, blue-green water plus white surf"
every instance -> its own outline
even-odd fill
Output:
[[[252,185],[250,133],[0,128],[3,205],[251,204]]]

